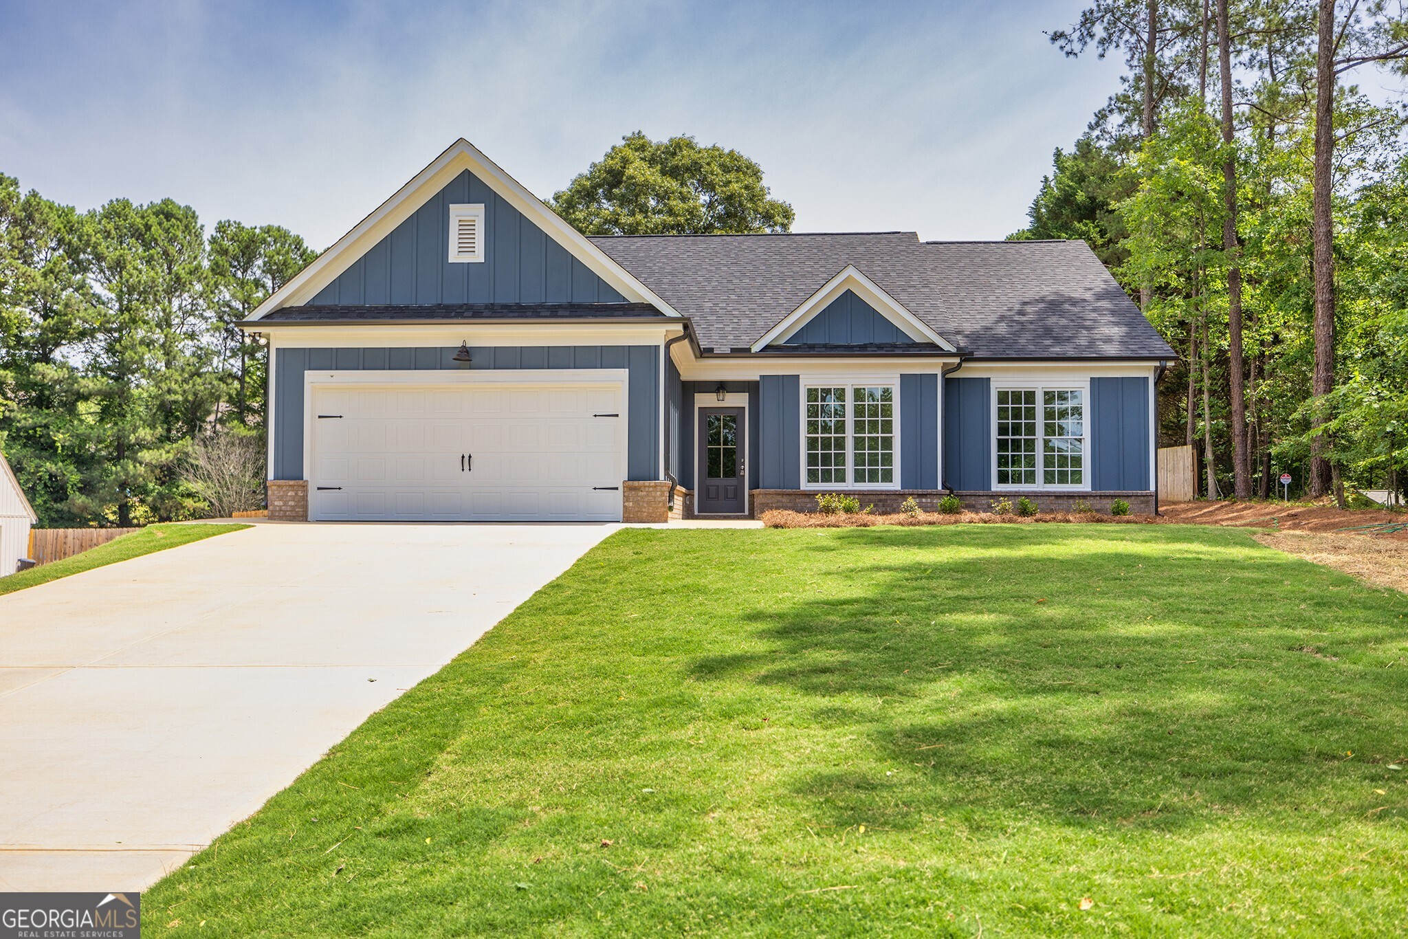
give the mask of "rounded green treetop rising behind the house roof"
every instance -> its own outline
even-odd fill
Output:
[[[738,151],[693,137],[628,134],[552,207],[584,235],[710,235],[790,231],[791,206],[772,198],[763,170]]]

